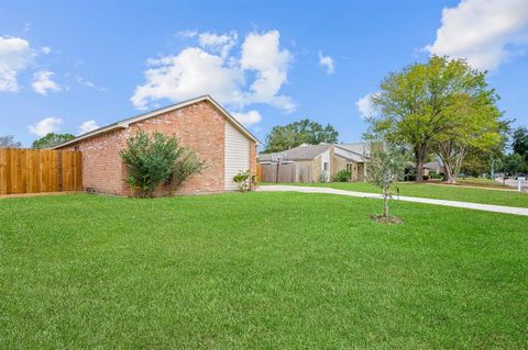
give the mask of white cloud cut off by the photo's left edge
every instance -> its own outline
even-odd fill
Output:
[[[28,41],[0,36],[0,91],[19,91],[16,76],[32,59],[33,53]]]

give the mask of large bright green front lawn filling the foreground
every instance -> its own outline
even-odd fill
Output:
[[[0,200],[0,349],[526,349],[528,218],[246,193]]]

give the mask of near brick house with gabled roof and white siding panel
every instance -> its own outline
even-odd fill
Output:
[[[82,153],[85,191],[129,195],[128,171],[119,151],[139,129],[177,137],[206,161],[205,170],[184,182],[178,193],[237,190],[233,176],[241,170],[256,171],[258,140],[209,95],[122,120],[54,148]],[[165,187],[156,191],[166,193]]]

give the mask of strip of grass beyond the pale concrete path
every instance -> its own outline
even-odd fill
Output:
[[[275,183],[263,183],[275,184]],[[307,187],[326,187],[339,190],[349,190],[358,192],[381,193],[380,188],[367,182],[329,182],[329,183],[280,183],[292,185],[307,185]],[[392,193],[396,194],[399,189],[400,195],[419,196],[437,200],[451,200],[472,203],[508,205],[528,207],[528,193],[521,193],[516,191],[499,191],[487,189],[471,189],[464,187],[452,187],[435,183],[414,183],[414,182],[399,182],[392,187]]]

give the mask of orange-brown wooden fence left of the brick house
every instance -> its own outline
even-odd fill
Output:
[[[0,148],[0,194],[82,190],[80,151]]]

